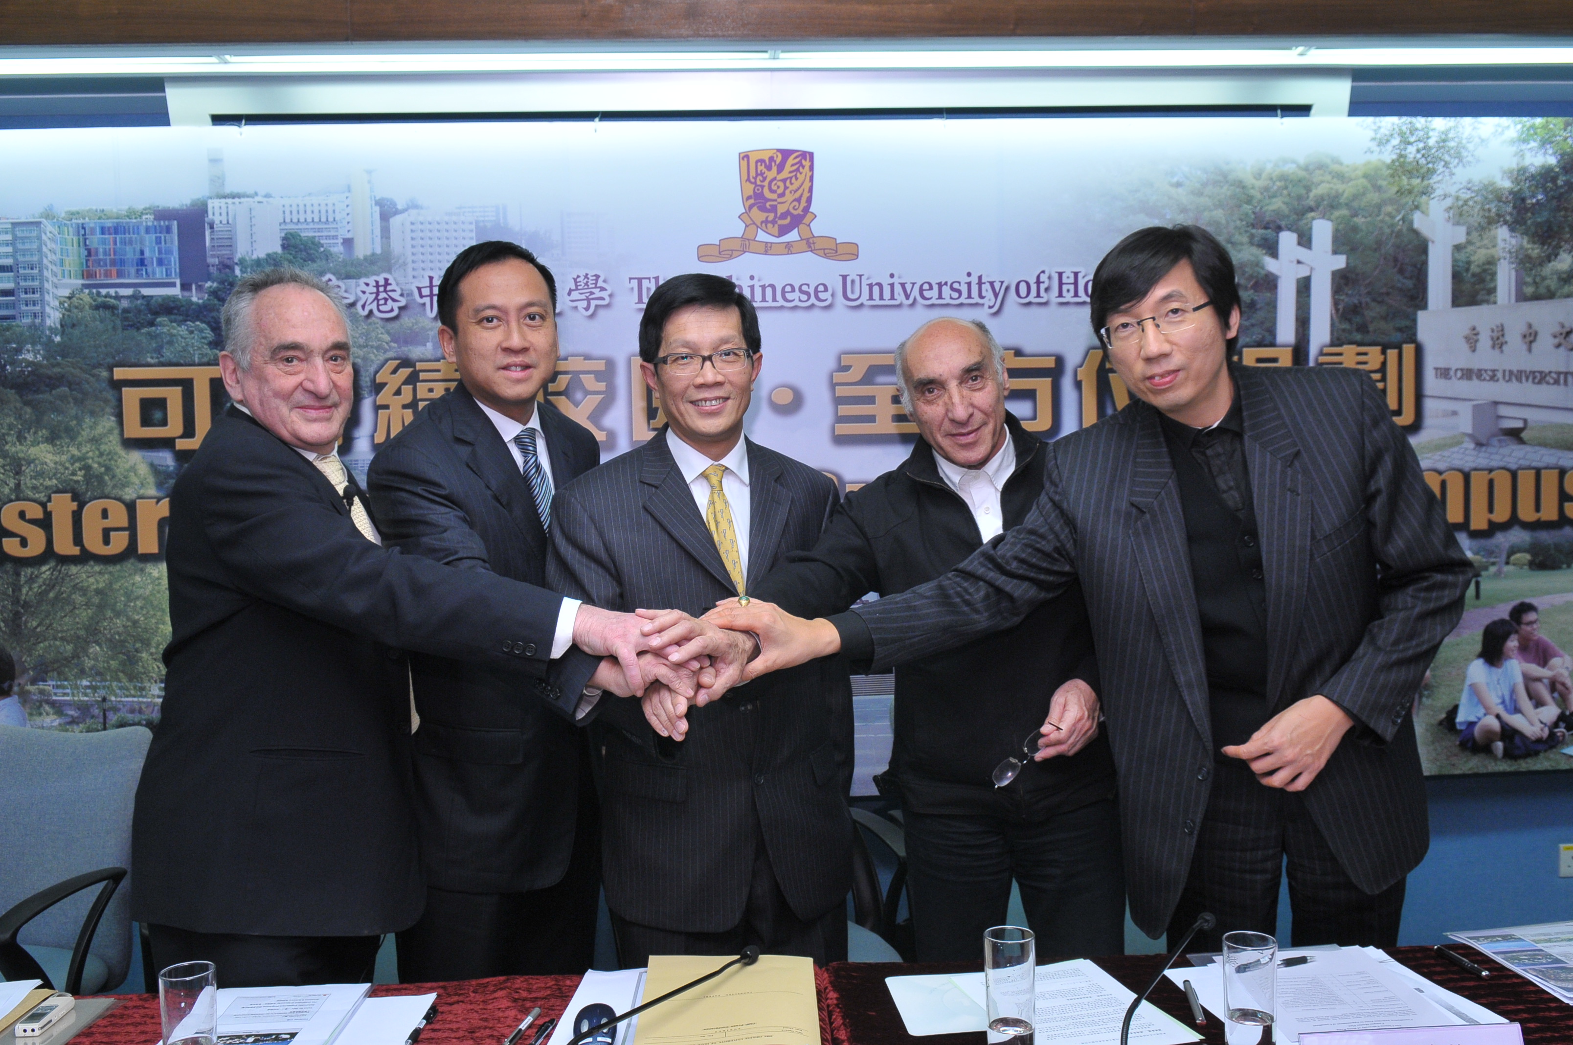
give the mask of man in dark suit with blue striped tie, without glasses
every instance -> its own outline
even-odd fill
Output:
[[[437,338],[459,386],[367,474],[389,546],[546,584],[552,489],[601,461],[584,425],[536,401],[557,367],[555,310],[557,282],[518,244],[480,242],[448,266]],[[426,910],[400,933],[400,979],[584,973],[601,891],[584,733],[484,664],[415,655],[411,674]]]

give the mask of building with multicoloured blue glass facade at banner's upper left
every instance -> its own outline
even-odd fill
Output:
[[[171,220],[94,219],[53,222],[61,297],[181,293],[179,233]]]

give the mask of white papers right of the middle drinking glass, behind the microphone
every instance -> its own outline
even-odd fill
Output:
[[[982,973],[952,979],[986,1012]],[[1136,998],[1136,991],[1087,958],[1040,965],[1033,987],[1033,1045],[1115,1045],[1125,1010]],[[989,1034],[988,1039],[993,1043],[1007,1040],[1004,1034]],[[1144,1001],[1131,1020],[1131,1040],[1140,1045],[1180,1045],[1199,1042],[1202,1036],[1153,1003]]]

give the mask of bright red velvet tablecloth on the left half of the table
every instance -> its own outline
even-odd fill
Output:
[[[820,987],[820,1037],[837,1045],[826,1023],[827,980],[815,969]],[[420,1045],[502,1045],[535,1006],[541,1020],[562,1018],[579,985],[577,976],[499,976],[456,984],[396,984],[373,987],[373,998],[392,995],[437,995],[437,1018],[422,1032]],[[156,995],[121,995],[121,1004],[71,1039],[72,1045],[153,1045],[159,1040],[159,999]]]

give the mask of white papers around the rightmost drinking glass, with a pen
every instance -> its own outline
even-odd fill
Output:
[[[1279,958],[1307,954],[1280,951]],[[1277,969],[1273,1040],[1298,1043],[1302,1032],[1376,1031],[1386,1028],[1460,1026],[1461,1015],[1416,991],[1409,980],[1373,962],[1359,947],[1309,952],[1306,965]],[[1175,987],[1191,980],[1197,998],[1225,1020],[1224,966],[1213,963],[1164,973]],[[1183,987],[1181,987],[1183,990]]]

